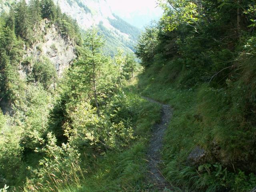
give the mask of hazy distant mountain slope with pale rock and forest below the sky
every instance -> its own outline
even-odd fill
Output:
[[[76,19],[82,30],[98,26],[106,38],[104,52],[110,55],[120,47],[125,52],[134,51],[140,30],[112,13],[106,0],[54,0],[62,12]]]

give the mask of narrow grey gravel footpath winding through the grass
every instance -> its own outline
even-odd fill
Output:
[[[152,182],[154,186],[159,189],[159,191],[164,191],[164,189],[171,189],[171,186],[168,182],[166,182],[166,179],[160,172],[158,164],[161,162],[160,150],[162,148],[164,132],[172,117],[172,109],[169,105],[162,104],[150,98],[145,97],[145,99],[150,102],[158,103],[162,106],[161,122],[154,126],[148,149],[148,172],[150,182]]]

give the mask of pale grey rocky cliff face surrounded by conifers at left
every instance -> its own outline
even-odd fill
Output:
[[[70,39],[64,39],[59,33],[54,24],[49,26],[48,20],[43,20],[39,28],[35,32],[38,36],[36,42],[32,46],[24,49],[26,54],[23,56],[23,61],[30,58],[37,61],[40,58],[46,57],[52,62],[56,68],[58,77],[62,75],[65,68],[68,68],[70,62],[76,58],[75,42]],[[25,78],[27,74],[32,72],[33,66],[20,63],[20,76]]]

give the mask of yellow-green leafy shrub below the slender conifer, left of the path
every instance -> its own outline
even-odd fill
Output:
[[[117,148],[133,138],[132,128],[126,128],[123,122],[112,123],[106,116],[98,116],[96,109],[86,102],[78,103],[74,111],[70,111],[70,118],[72,123],[66,124],[66,134],[70,144],[80,148]]]

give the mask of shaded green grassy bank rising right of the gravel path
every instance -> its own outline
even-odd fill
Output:
[[[179,88],[182,72],[174,75],[176,72],[172,66],[172,61],[156,61],[139,76],[137,84],[143,96],[168,103],[174,109],[162,151],[164,175],[183,190],[250,191],[256,185],[256,176],[245,174],[237,165],[223,163],[225,158],[229,158],[228,155],[234,154],[228,150],[232,146],[234,130],[230,122],[223,121],[230,110],[230,106],[221,102],[224,96],[211,90],[207,84],[190,89]],[[175,80],[173,76],[176,76]],[[221,146],[222,163],[209,155],[200,168],[188,166],[188,154],[196,146],[211,152],[214,141]],[[245,145],[246,142],[243,142],[241,135],[236,144]]]

